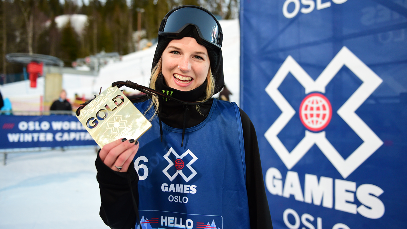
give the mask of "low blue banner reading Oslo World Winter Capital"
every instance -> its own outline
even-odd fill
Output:
[[[96,145],[75,116],[0,116],[0,148]]]

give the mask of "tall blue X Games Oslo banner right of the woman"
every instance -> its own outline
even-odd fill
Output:
[[[241,1],[275,229],[407,228],[407,0]]]

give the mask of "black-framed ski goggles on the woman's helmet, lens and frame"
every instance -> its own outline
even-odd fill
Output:
[[[165,15],[158,35],[176,38],[189,25],[195,26],[199,40],[214,48],[222,47],[222,28],[208,10],[193,5],[177,7]]]

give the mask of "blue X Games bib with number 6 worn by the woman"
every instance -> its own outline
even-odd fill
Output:
[[[135,105],[144,112],[149,104]],[[150,110],[146,118],[152,114]],[[250,228],[236,103],[214,99],[208,117],[185,130],[183,147],[182,129],[162,123],[161,142],[158,118],[151,124],[134,157],[141,228]]]

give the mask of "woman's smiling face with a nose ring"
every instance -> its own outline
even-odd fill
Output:
[[[202,85],[209,68],[208,51],[193,37],[170,41],[162,53],[165,83],[180,91],[190,91]]]

